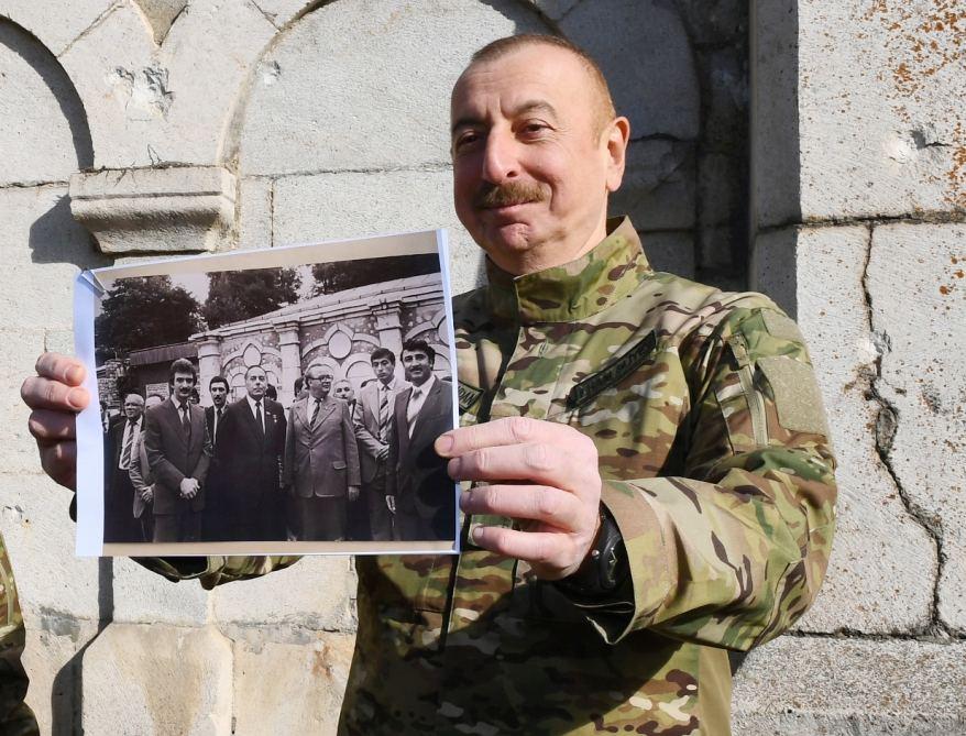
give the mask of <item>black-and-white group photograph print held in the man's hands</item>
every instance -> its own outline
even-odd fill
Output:
[[[87,272],[78,550],[457,551],[444,237]]]

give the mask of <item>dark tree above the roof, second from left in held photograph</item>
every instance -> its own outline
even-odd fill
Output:
[[[210,287],[201,316],[213,330],[298,301],[301,277],[295,268],[253,268],[208,274]]]

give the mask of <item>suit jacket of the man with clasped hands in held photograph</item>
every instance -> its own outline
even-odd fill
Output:
[[[205,425],[205,410],[189,403],[188,416],[190,439],[171,399],[147,410],[144,446],[155,479],[155,514],[178,514],[186,507],[193,512],[205,508],[205,477],[211,461],[211,442]],[[190,499],[180,495],[180,484],[186,477],[194,477],[201,484],[201,490]]]

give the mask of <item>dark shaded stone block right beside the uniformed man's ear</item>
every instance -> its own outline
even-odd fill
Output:
[[[612,215],[629,215],[643,230],[694,226],[694,146],[638,141],[627,151],[623,186],[611,196]]]

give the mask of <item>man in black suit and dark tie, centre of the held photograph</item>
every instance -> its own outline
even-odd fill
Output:
[[[215,455],[223,493],[227,539],[283,540],[279,488],[285,450],[285,410],[267,397],[265,369],[245,371],[245,396],[228,407]]]

